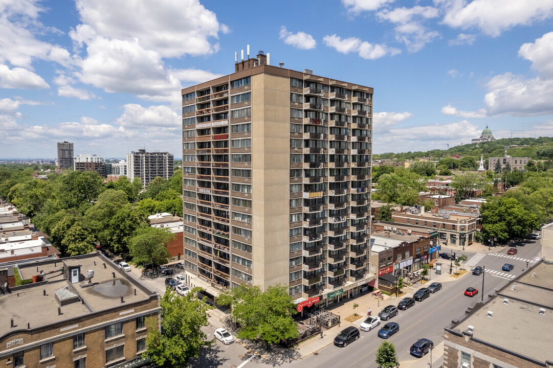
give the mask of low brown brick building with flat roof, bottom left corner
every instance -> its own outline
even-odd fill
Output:
[[[159,293],[96,253],[17,271],[35,282],[0,295],[2,366],[101,368],[142,359],[158,326]]]

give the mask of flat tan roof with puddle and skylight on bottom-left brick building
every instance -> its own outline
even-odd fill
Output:
[[[106,268],[103,267],[104,263]],[[62,267],[66,264],[81,265],[79,282],[71,283],[64,276]],[[81,283],[86,282],[88,270],[94,271],[92,286],[81,287]],[[20,268],[24,279],[39,275],[40,271],[46,273],[45,278],[48,282],[30,284],[28,288],[12,290],[10,294],[0,295],[0,320],[9,321],[13,318],[16,325],[27,328],[29,323],[30,328],[37,328],[42,325],[121,307],[124,304],[147,301],[152,295],[156,294],[155,291],[141,285],[128,272],[124,272],[111,261],[98,254],[91,254],[86,257],[80,256],[77,259],[48,260],[24,265]],[[113,277],[112,272],[114,272],[115,277]],[[60,307],[60,304],[55,297],[56,291],[65,287],[68,291],[75,293],[78,300],[61,306],[62,314],[59,315],[58,307]],[[45,296],[44,290],[46,291]],[[121,303],[121,296],[123,296],[123,303]],[[0,336],[7,333],[8,329],[8,323],[1,324]]]

